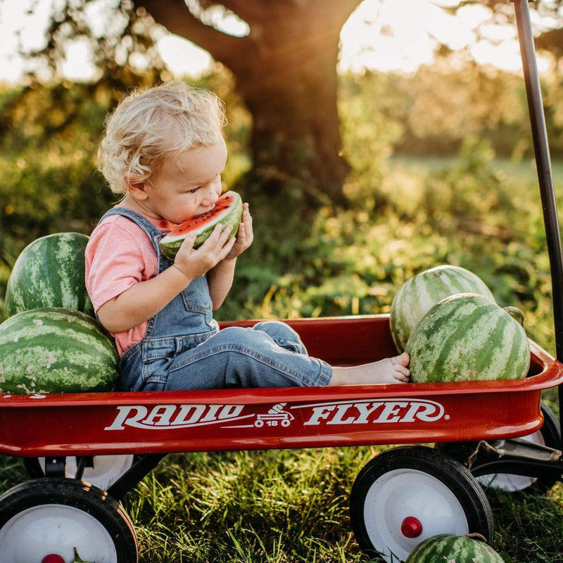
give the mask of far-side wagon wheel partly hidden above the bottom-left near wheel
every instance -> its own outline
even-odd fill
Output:
[[[85,457],[66,458],[66,476],[87,481],[98,488],[106,489],[115,483],[134,462],[134,455],[94,455],[90,462]],[[23,460],[27,474],[33,479],[45,476],[44,457],[25,457]]]

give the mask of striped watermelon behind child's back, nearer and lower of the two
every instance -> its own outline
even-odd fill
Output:
[[[83,312],[46,307],[0,324],[0,393],[111,391],[113,339]]]

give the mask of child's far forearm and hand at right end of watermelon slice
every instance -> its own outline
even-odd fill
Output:
[[[248,203],[244,203],[242,221],[239,224],[239,230],[236,232],[234,246],[224,260],[219,262],[212,270],[209,270],[207,274],[209,295],[214,311],[220,308],[231,289],[236,258],[251,246],[253,239],[252,217],[248,210]]]

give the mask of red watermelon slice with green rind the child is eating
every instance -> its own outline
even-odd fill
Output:
[[[229,235],[230,239],[231,236],[236,234],[241,217],[241,196],[236,191],[227,191],[226,194],[217,199],[217,203],[215,203],[215,207],[212,210],[180,223],[166,236],[163,236],[160,239],[160,248],[166,258],[173,261],[188,233],[196,232],[194,248],[199,248],[213,232],[217,223],[221,223],[223,228],[232,224],[233,230]]]

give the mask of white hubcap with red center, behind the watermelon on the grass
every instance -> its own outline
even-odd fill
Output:
[[[469,532],[462,505],[450,488],[416,469],[381,475],[366,495],[364,521],[372,545],[388,563],[404,561],[430,536]],[[415,523],[414,534],[405,521]]]

